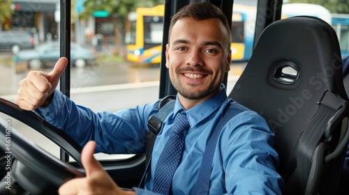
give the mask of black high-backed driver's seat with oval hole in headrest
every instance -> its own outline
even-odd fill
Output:
[[[336,194],[349,110],[329,24],[301,16],[267,26],[229,97],[274,132],[284,194]]]

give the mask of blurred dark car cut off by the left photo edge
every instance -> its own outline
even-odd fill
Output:
[[[0,31],[0,49],[1,51],[11,51],[13,54],[22,49],[31,49],[35,47],[34,38],[24,31]]]

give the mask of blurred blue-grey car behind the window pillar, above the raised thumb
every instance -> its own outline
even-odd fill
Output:
[[[15,54],[13,61],[16,65],[25,64],[28,68],[50,68],[60,58],[59,42],[46,42],[34,49],[23,50]],[[96,62],[96,51],[70,43],[70,65],[84,68]]]

